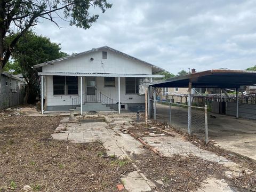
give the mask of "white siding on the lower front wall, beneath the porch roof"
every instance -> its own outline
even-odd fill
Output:
[[[53,95],[53,78],[46,76],[46,102],[47,106],[65,106],[72,105],[72,98],[78,95]],[[121,103],[143,103],[145,102],[145,95],[125,94],[125,78],[120,78],[121,87]],[[114,103],[118,102],[118,77],[115,78],[115,87],[105,87],[104,77],[96,78],[97,92],[107,95],[114,99]],[[83,77],[83,93],[86,90],[86,78]],[[78,94],[80,94],[80,77],[78,77]],[[130,98],[130,99],[129,99]],[[132,98],[132,99],[131,99]]]

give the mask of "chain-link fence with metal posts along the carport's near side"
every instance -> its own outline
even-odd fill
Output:
[[[167,101],[151,100],[151,105],[156,102],[156,121],[167,123],[175,130],[208,142],[207,107],[187,106]]]

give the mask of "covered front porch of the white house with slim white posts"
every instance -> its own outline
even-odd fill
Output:
[[[128,109],[145,105],[145,96],[139,95],[143,78],[163,77],[145,74],[85,74],[38,73],[41,75],[41,113],[46,110],[102,111]],[[59,77],[59,78],[58,78]],[[71,81],[74,78],[76,80]],[[59,79],[66,79],[60,82]],[[58,89],[59,90],[58,90]],[[81,97],[82,95],[82,97]],[[43,104],[45,99],[45,105]],[[122,106],[122,107],[121,107]],[[122,109],[121,109],[122,108]]]

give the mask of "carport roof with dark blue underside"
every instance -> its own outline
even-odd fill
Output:
[[[237,88],[243,85],[256,84],[256,71],[244,70],[206,70],[184,76],[177,76],[161,83],[151,84],[153,87],[219,87]]]

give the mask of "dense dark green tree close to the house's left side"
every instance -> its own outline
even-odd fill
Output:
[[[7,41],[12,41],[15,34]],[[60,44],[52,43],[49,38],[38,36],[35,33],[28,31],[24,36],[19,38],[15,49],[12,52],[14,62],[19,63],[23,78],[27,83],[26,88],[26,103],[34,103],[39,91],[40,78],[37,72],[31,66],[39,63],[66,57],[67,53],[60,51]]]

